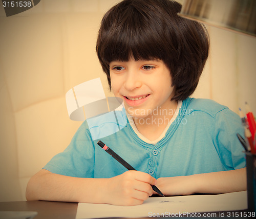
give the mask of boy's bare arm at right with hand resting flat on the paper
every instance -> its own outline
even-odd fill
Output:
[[[164,195],[228,193],[246,190],[246,168],[158,178],[156,185]]]

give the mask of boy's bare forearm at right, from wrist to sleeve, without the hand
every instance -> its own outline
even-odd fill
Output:
[[[228,193],[244,191],[246,185],[246,168],[191,175],[195,183],[194,193]]]

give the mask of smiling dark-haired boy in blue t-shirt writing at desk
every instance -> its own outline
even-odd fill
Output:
[[[179,17],[180,10],[169,0],[124,0],[106,12],[96,49],[124,103],[117,115],[124,125],[95,140],[84,122],[69,147],[31,178],[28,200],[138,205],[153,194],[151,185],[164,195],[246,190],[239,116],[189,98],[209,42],[204,26]],[[94,133],[110,127],[105,121],[94,118]],[[138,171],[126,171],[99,140]]]

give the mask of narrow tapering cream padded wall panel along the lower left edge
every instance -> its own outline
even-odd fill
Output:
[[[0,59],[1,63],[1,59]],[[8,87],[0,65],[0,202],[21,201],[15,121]]]

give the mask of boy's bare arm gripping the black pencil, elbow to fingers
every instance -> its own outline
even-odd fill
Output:
[[[78,178],[42,169],[31,177],[26,198],[31,200],[139,205],[152,195],[156,179],[139,171],[112,178]]]

